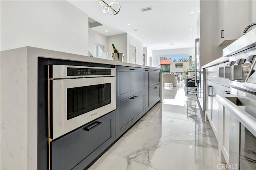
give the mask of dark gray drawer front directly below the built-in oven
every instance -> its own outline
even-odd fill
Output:
[[[83,169],[115,140],[115,112],[51,142],[52,170]],[[92,125],[97,125],[87,131]]]

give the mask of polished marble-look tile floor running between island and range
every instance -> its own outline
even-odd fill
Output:
[[[216,170],[217,141],[184,84],[162,88],[157,103],[90,170]]]

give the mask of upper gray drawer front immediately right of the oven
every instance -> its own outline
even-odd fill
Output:
[[[145,90],[145,69],[116,66],[116,101]]]

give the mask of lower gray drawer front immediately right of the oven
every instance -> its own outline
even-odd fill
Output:
[[[145,92],[142,92],[116,103],[116,138],[144,115],[144,100]]]

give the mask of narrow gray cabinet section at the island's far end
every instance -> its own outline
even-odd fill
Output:
[[[160,70],[146,69],[146,112],[160,100],[160,75]]]

